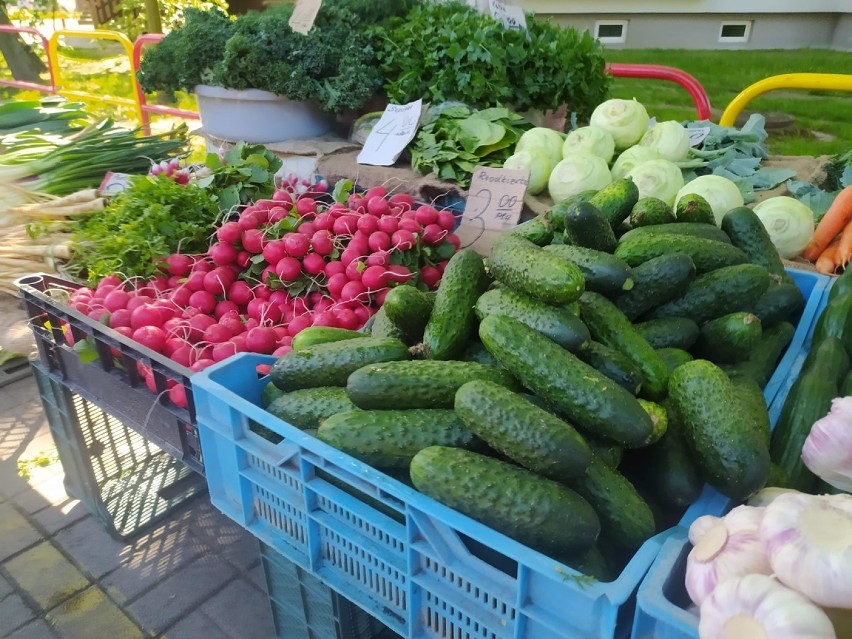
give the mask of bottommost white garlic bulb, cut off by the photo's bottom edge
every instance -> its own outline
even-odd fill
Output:
[[[828,616],[766,575],[720,584],[701,604],[701,639],[837,639]]]

